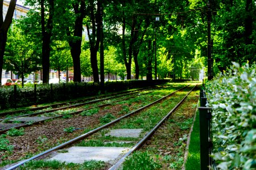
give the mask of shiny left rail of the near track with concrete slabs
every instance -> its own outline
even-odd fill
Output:
[[[188,85],[188,86],[189,86],[189,85]],[[153,105],[153,104],[155,104],[155,103],[158,103],[159,101],[161,101],[161,100],[163,100],[163,99],[166,99],[168,96],[171,96],[172,94],[175,94],[175,92],[180,91],[180,90],[182,90],[183,88],[186,88],[186,87],[188,87],[188,86],[184,86],[184,87],[180,88],[179,90],[176,90],[176,91],[172,92],[171,94],[162,97],[161,99],[158,99],[158,100],[156,100],[156,101],[154,101],[154,102],[152,102],[152,103],[150,103],[150,104],[145,105],[144,107],[141,107],[141,108],[139,108],[139,109],[137,109],[137,110],[135,110],[135,111],[132,111],[132,112],[130,112],[130,113],[128,113],[128,114],[125,114],[124,116],[119,117],[119,118],[117,118],[117,119],[115,119],[115,120],[109,122],[108,124],[102,125],[102,126],[96,128],[96,129],[93,129],[93,130],[91,130],[91,131],[88,131],[88,132],[85,133],[85,134],[80,135],[79,137],[76,137],[76,138],[73,138],[73,139],[71,139],[71,140],[69,140],[69,141],[67,141],[67,142],[64,142],[64,143],[62,143],[61,145],[55,146],[55,147],[53,147],[53,148],[51,148],[51,149],[49,149],[49,150],[46,150],[46,151],[44,151],[44,152],[42,152],[42,153],[40,153],[40,154],[38,154],[38,155],[32,156],[32,157],[29,158],[29,159],[23,160],[23,161],[19,162],[18,164],[15,164],[15,165],[13,165],[12,167],[7,168],[6,170],[11,170],[11,169],[18,168],[19,166],[23,165],[24,163],[30,162],[31,160],[34,160],[34,159],[36,159],[36,158],[39,158],[40,156],[49,154],[49,153],[52,152],[52,151],[58,150],[58,149],[63,148],[63,147],[65,147],[65,146],[71,145],[72,143],[75,143],[75,142],[77,142],[77,141],[80,141],[81,139],[84,139],[85,137],[88,137],[89,135],[94,134],[94,133],[96,133],[97,131],[99,131],[99,130],[101,130],[101,129],[104,129],[104,128],[110,126],[110,125],[113,125],[115,122],[118,122],[118,121],[122,120],[123,118],[129,117],[129,116],[131,116],[131,115],[134,114],[134,113],[137,113],[137,112],[139,112],[139,111],[142,111],[143,109],[145,109],[145,108],[147,108],[147,107],[150,107],[151,105]]]

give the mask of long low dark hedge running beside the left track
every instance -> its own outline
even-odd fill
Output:
[[[131,88],[142,88],[170,82],[171,80],[127,80],[105,82],[105,92],[117,92]],[[100,84],[96,83],[60,83],[60,84],[32,84],[24,88],[12,86],[0,88],[0,109],[37,105],[46,102],[75,99],[97,95]]]

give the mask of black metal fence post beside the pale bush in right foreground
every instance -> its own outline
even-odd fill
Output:
[[[212,108],[207,107],[207,97],[203,90],[200,91],[199,107],[200,123],[200,166],[201,170],[210,169],[213,166],[212,154]]]

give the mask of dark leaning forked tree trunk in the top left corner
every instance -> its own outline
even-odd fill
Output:
[[[5,17],[5,21],[3,21],[3,1],[0,2],[0,86],[2,85],[3,55],[5,54],[7,32],[11,25],[11,22],[13,21],[15,6],[16,0],[11,0]]]

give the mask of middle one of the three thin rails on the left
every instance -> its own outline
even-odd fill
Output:
[[[161,87],[154,87],[154,88],[149,88],[149,89],[146,89],[146,90],[151,90],[151,89],[155,89],[155,88],[161,88]],[[8,118],[2,118],[2,119],[0,119],[0,121],[10,120],[10,119],[13,119],[13,118],[24,117],[24,116],[35,116],[35,115],[37,115],[37,114],[55,112],[55,111],[59,111],[59,110],[62,110],[62,109],[80,107],[80,106],[82,106],[82,105],[92,104],[92,103],[96,103],[96,102],[98,102],[98,101],[104,101],[104,100],[114,99],[114,98],[122,97],[122,96],[126,96],[126,95],[137,94],[137,93],[139,93],[139,92],[146,91],[146,90],[140,90],[140,91],[135,91],[135,92],[129,92],[129,93],[123,94],[123,95],[112,96],[112,97],[106,97],[106,98],[104,98],[104,99],[96,99],[96,100],[92,100],[92,101],[87,101],[87,102],[85,102],[85,103],[79,103],[79,104],[68,105],[68,106],[65,106],[65,107],[55,108],[55,109],[51,109],[51,110],[48,110],[48,111],[39,111],[39,112],[36,112],[36,113],[22,114],[22,115],[19,115],[19,116],[8,117]],[[1,133],[1,131],[0,131],[0,133]]]

